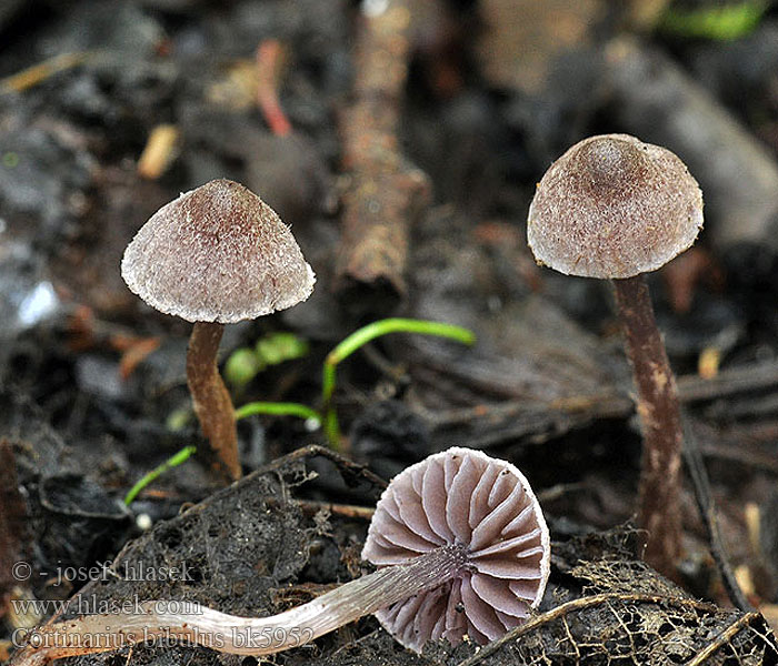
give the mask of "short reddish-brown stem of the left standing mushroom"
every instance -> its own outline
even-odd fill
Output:
[[[235,406],[217,365],[223,332],[223,324],[194,323],[187,351],[187,384],[202,433],[235,480],[240,478]]]

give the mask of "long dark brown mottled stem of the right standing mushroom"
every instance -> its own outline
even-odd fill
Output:
[[[678,389],[644,275],[614,280],[614,285],[638,390],[637,412],[644,435],[638,524],[649,532],[646,561],[667,574],[675,571],[681,549],[684,435]]]

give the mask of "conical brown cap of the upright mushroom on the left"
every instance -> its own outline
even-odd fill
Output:
[[[228,180],[157,211],[127,246],[121,274],[160,312],[220,323],[291,307],[316,281],[289,228],[259,196]]]

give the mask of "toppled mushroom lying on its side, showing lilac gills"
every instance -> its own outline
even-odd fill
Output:
[[[363,615],[406,647],[485,644],[521,624],[549,574],[548,528],[511,464],[468,448],[429,456],[397,475],[376,507],[363,557],[379,568],[271,617],[149,601],[140,612],[87,615],[28,636],[17,666],[178,638],[237,655],[297,647]],[[102,640],[88,640],[98,634]]]

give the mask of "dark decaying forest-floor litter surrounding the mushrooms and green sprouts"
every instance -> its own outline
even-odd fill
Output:
[[[691,4],[706,2],[3,4],[0,656],[16,628],[74,616],[79,598],[255,616],[305,603],[369,571],[359,553],[385,478],[457,445],[518,464],[538,491],[553,559],[537,615],[488,647],[421,656],[365,618],[276,663],[778,663],[765,620],[778,603],[778,11],[732,42],[662,31],[662,7]],[[174,140],[160,147],[160,128]],[[629,526],[640,437],[610,304],[526,246],[542,172],[604,132],[678,152],[707,206],[699,253],[651,276],[699,454],[679,507],[682,588],[642,564]],[[138,170],[151,148],[162,154]],[[321,407],[321,362],[379,314],[478,337],[397,335],[355,354],[335,395],[347,456],[301,421],[242,420],[248,475],[223,490],[191,415],[187,327],[142,310],[119,274],[154,210],[218,178],[292,223],[319,280],[293,311],[225,333],[226,355],[269,331],[310,346],[236,405]],[[102,563],[104,576],[57,581]],[[128,579],[140,563],[187,575]],[[13,605],[69,598],[58,617]],[[76,662],[238,664],[179,644]]]

